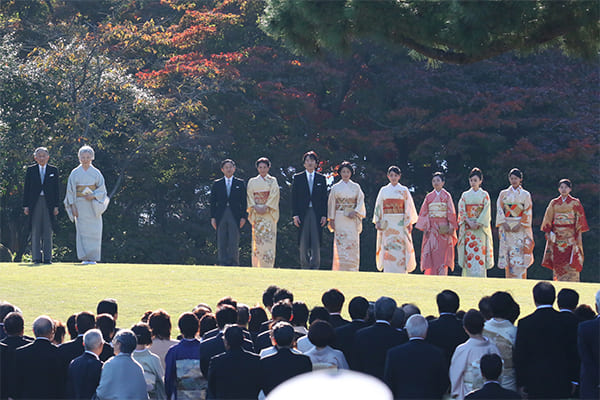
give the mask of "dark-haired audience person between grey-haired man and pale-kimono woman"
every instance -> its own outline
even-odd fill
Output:
[[[469,336],[463,329],[462,322],[456,318],[460,303],[458,295],[452,290],[443,290],[437,295],[436,302],[440,316],[429,322],[425,340],[444,351],[450,366],[454,350],[459,344],[466,342]]]

